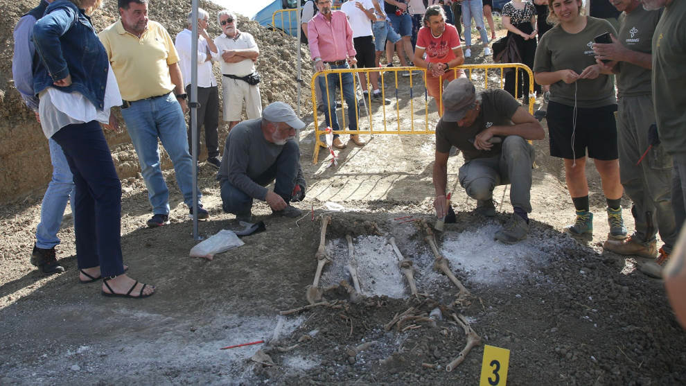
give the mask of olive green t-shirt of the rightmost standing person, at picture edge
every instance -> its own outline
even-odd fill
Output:
[[[662,10],[653,34],[653,104],[661,146],[686,152],[686,1]]]

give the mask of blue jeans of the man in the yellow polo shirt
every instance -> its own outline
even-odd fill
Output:
[[[193,207],[193,159],[188,152],[184,113],[174,94],[137,100],[121,109],[121,115],[141,164],[152,213],[169,214],[169,189],[160,168],[158,138],[172,160],[184,202]],[[198,190],[198,201],[200,196]]]

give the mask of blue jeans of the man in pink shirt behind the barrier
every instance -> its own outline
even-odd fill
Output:
[[[340,66],[331,65],[331,69],[349,69],[348,63]],[[338,78],[338,76],[341,76]],[[343,98],[348,105],[348,128],[350,130],[358,130],[358,121],[355,119],[355,109],[357,109],[357,100],[355,100],[355,89],[353,89],[353,74],[352,73],[330,73],[326,76],[328,80],[328,105],[324,104],[324,121],[326,125],[330,126],[334,131],[341,130],[338,124],[338,114],[336,113],[336,89],[343,84]],[[326,80],[323,76],[319,76],[319,88],[322,89],[322,100],[326,101]],[[329,118],[329,108],[333,116]],[[338,134],[333,135],[334,138]]]

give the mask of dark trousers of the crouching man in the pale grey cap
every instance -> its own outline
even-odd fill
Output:
[[[253,181],[261,186],[271,184],[274,179],[274,193],[278,194],[288,204],[290,202],[295,179],[298,177],[298,163],[300,151],[295,141],[288,141],[283,146],[281,154],[276,157],[276,162],[265,170],[262,175],[254,178]],[[232,185],[228,179],[220,182],[222,195],[222,208],[227,213],[246,214],[252,208],[252,197],[244,191]]]

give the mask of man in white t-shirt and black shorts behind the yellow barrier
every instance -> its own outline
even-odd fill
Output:
[[[374,4],[371,0],[349,0],[343,3],[341,10],[345,12],[348,22],[353,28],[353,44],[355,51],[357,51],[355,59],[358,60],[358,64],[360,67],[368,69],[376,67],[376,51],[374,50],[374,38],[371,32],[371,21],[376,21]],[[383,98],[379,90],[378,77],[379,73],[376,71],[369,73],[371,87],[374,90],[371,100],[381,102]],[[364,100],[368,100],[367,76],[364,73],[360,73],[360,85],[362,85]],[[384,102],[386,103],[386,101]],[[390,102],[387,100],[387,103]]]

